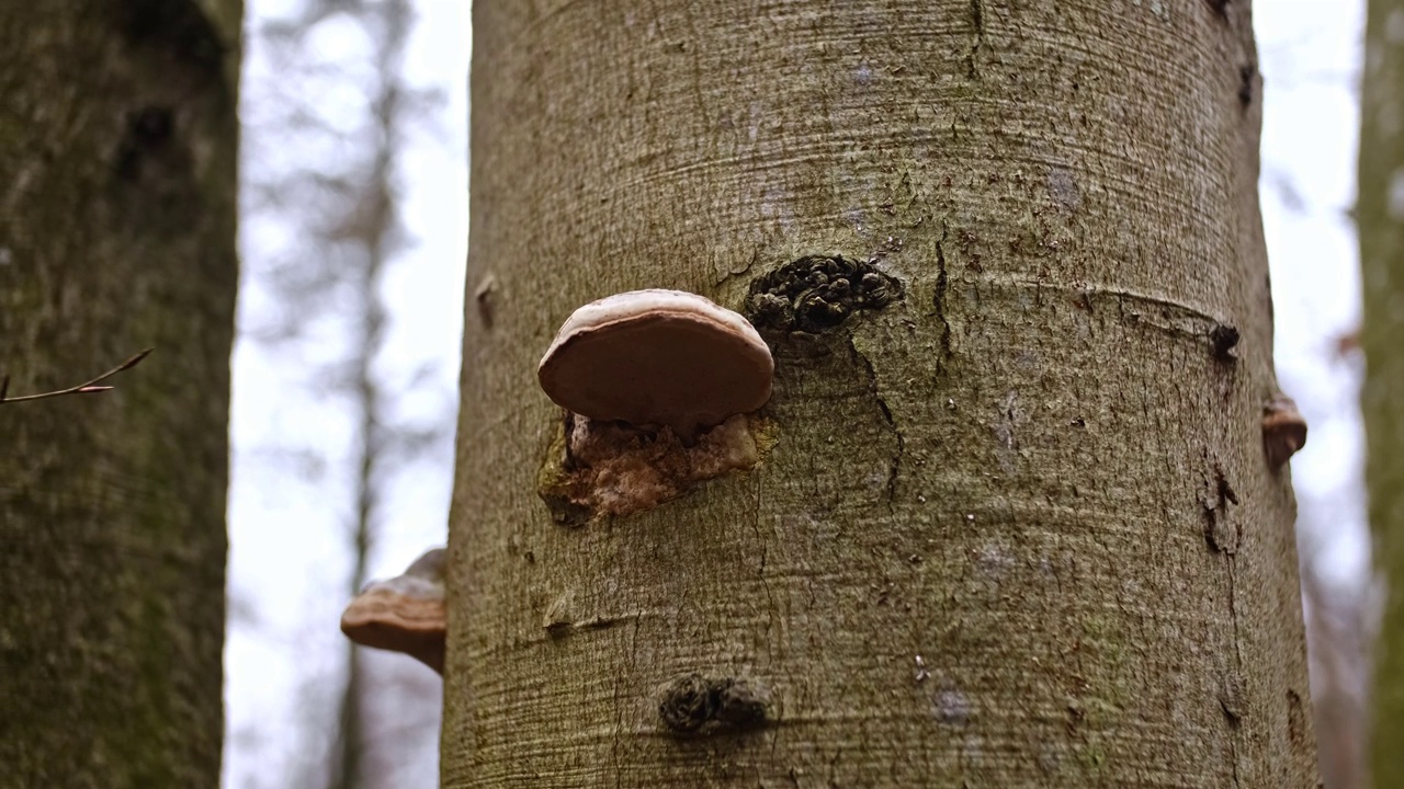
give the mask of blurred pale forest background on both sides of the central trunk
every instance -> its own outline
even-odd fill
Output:
[[[1139,0],[1136,0],[1139,3]],[[341,608],[446,539],[468,244],[465,0],[249,0],[225,786],[438,783],[439,678]],[[1363,3],[1258,0],[1261,192],[1313,695],[1360,786],[1369,545],[1356,406]]]

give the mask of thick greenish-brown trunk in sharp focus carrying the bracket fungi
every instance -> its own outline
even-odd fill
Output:
[[[445,786],[1316,786],[1248,3],[473,29]],[[900,298],[775,329],[810,256]],[[636,288],[769,327],[775,445],[567,528],[535,365]],[[692,674],[762,713],[671,734]]]

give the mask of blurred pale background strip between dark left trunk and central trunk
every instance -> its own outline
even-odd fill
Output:
[[[446,539],[468,17],[246,6],[225,786],[438,785],[438,675],[337,623]]]

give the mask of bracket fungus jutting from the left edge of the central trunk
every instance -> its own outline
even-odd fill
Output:
[[[352,642],[404,654],[444,674],[444,557],[435,548],[403,576],[371,581],[341,614],[341,632]]]

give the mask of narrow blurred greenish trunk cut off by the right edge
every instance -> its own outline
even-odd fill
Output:
[[[1375,647],[1370,779],[1404,786],[1404,0],[1369,0],[1356,219],[1365,319],[1365,482],[1384,581]]]

